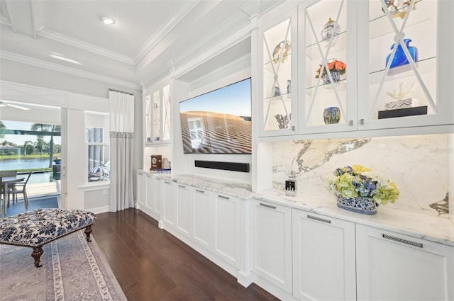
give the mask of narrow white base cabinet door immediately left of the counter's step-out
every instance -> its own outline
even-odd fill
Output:
[[[231,196],[216,195],[214,203],[214,252],[221,259],[238,268],[239,200]]]

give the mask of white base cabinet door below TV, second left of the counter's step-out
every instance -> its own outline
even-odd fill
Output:
[[[213,245],[212,231],[214,225],[214,198],[211,193],[201,189],[194,191],[194,202],[193,202],[193,221],[194,221],[194,232],[193,238],[195,242],[204,246],[206,249],[211,249]]]

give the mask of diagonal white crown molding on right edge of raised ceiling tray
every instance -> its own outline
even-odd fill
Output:
[[[192,9],[194,9],[200,1],[201,0],[184,2],[179,10],[174,13],[170,21],[168,21],[164,26],[161,26],[161,28],[157,30],[154,35],[148,38],[148,40],[139,48],[137,55],[135,55],[133,59],[134,64],[140,62],[140,59],[143,59],[148,52],[153,50],[153,48],[156,47],[157,44],[165,38],[172,31],[172,29],[175,28],[175,26],[177,26],[189,13],[191,13]]]

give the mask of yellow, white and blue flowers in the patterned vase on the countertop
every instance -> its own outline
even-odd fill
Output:
[[[329,191],[344,198],[372,198],[382,205],[399,198],[396,183],[362,165],[336,169],[326,176],[325,184]]]

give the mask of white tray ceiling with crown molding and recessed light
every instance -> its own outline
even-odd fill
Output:
[[[146,86],[280,2],[0,0],[0,56]],[[105,25],[100,16],[110,16],[116,24]],[[250,42],[235,51],[248,54]]]

